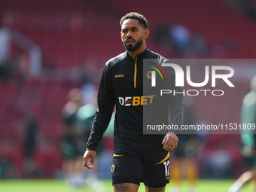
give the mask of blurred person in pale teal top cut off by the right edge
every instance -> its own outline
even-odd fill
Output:
[[[241,124],[246,127],[255,127],[256,123],[256,75],[251,79],[251,92],[242,101]],[[243,173],[227,192],[238,192],[240,189],[253,181],[256,191],[256,135],[255,130],[241,130],[242,155],[245,157],[245,165],[249,170]]]

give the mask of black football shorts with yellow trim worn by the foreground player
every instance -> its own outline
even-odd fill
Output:
[[[164,187],[169,183],[169,152],[114,151],[112,184]]]

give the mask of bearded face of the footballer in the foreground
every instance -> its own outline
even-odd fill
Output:
[[[121,26],[121,38],[126,50],[133,52],[142,46],[145,29],[139,24],[139,20],[124,20]]]

